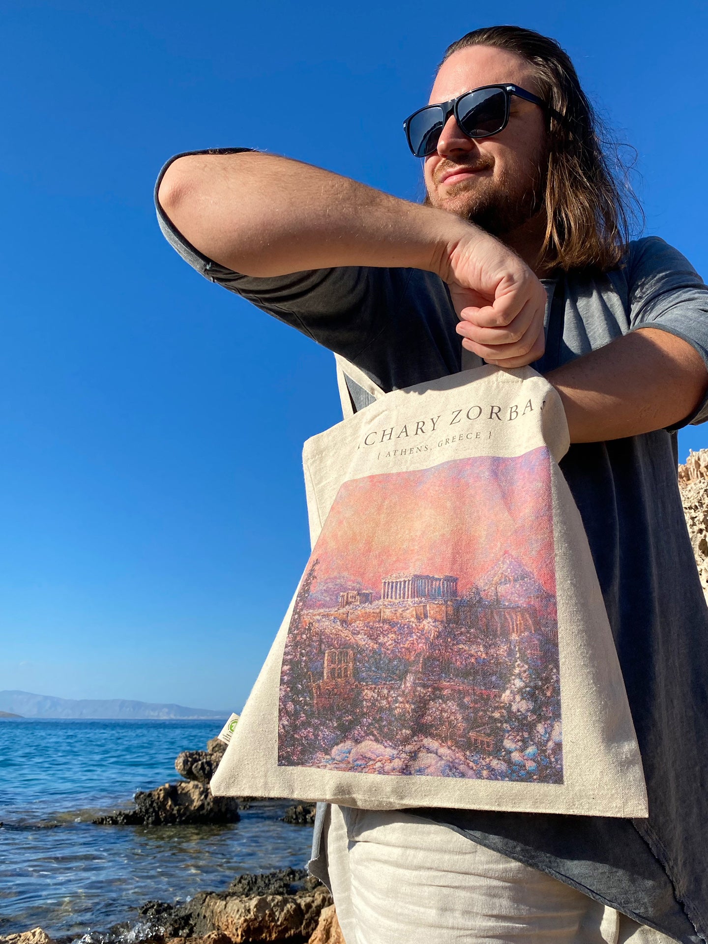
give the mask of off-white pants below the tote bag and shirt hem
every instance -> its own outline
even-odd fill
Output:
[[[332,806],[325,827],[346,944],[668,944],[536,868],[447,826]]]

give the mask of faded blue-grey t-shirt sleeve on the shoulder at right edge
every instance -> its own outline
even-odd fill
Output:
[[[632,244],[627,273],[630,327],[656,328],[683,338],[708,369],[708,287],[673,246],[652,236]],[[708,394],[672,430],[708,419]]]

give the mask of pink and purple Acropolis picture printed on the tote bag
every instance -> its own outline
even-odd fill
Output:
[[[285,645],[280,766],[563,783],[549,463],[342,486]]]

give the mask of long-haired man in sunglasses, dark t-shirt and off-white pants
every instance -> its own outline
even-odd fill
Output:
[[[556,42],[469,33],[430,105],[406,124],[424,206],[294,160],[202,152],[163,170],[160,224],[207,278],[385,390],[460,370],[463,346],[554,384],[649,819],[335,806],[313,868],[329,865],[348,944],[708,939],[708,614],[675,433],[708,417],[708,290],[661,240],[626,244],[592,110]]]

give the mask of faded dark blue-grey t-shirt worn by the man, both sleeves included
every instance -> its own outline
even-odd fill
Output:
[[[461,369],[457,316],[445,283],[429,272],[351,266],[247,277],[195,250],[160,206],[158,216],[167,239],[202,275],[341,354],[383,390]],[[548,304],[546,354],[534,365],[542,372],[642,327],[683,338],[708,367],[708,289],[663,240],[630,244],[615,271],[561,279],[546,282],[556,302]],[[362,389],[349,384],[349,391],[355,407],[365,408]],[[708,398],[683,423],[706,418]],[[656,430],[573,445],[561,463],[615,636],[649,818],[419,812],[642,924],[697,942],[708,939],[708,609],[676,462],[676,431]]]

